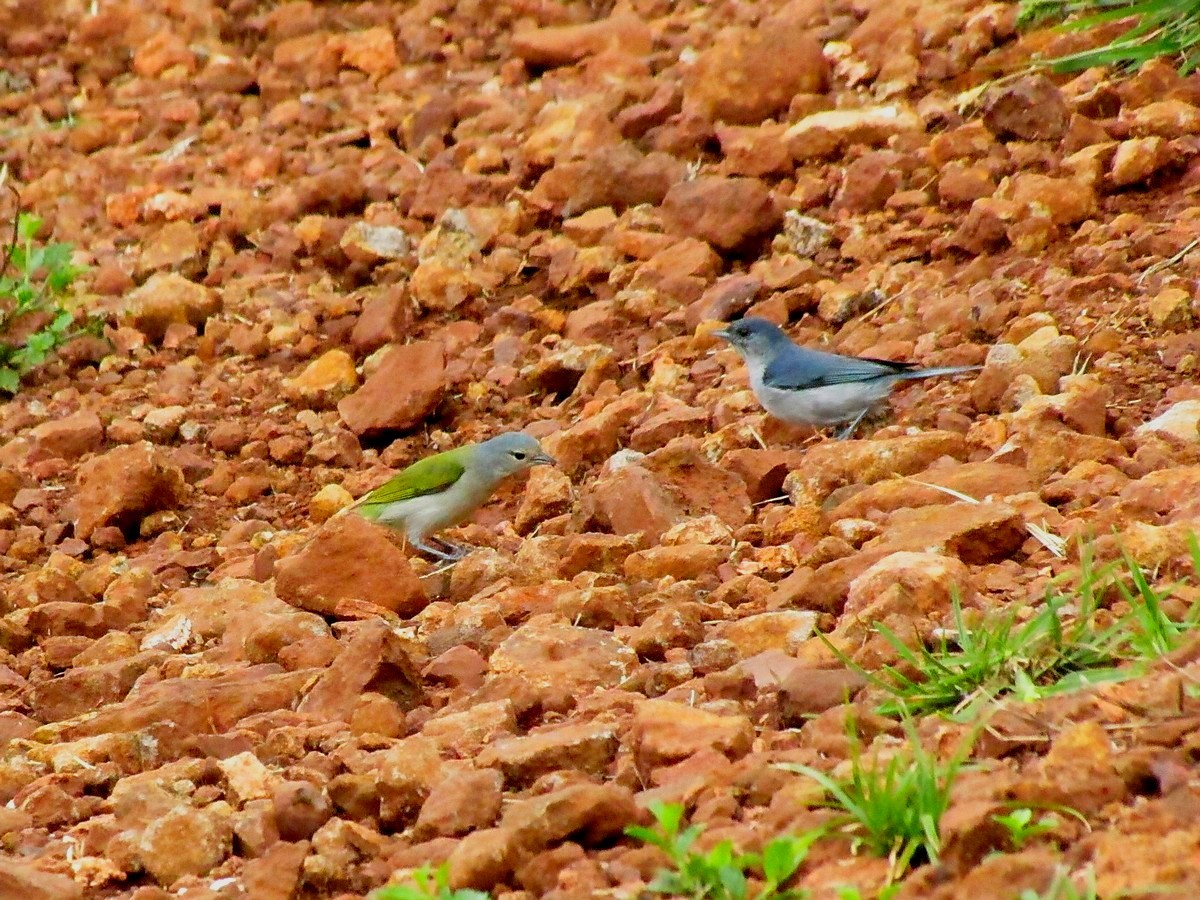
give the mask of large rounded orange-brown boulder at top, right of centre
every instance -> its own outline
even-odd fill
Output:
[[[829,67],[821,43],[799,23],[768,18],[757,29],[718,32],[684,74],[684,103],[713,121],[757,125],[797,94],[821,94]]]

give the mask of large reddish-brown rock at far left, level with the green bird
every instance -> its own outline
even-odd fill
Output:
[[[132,528],[150,512],[174,509],[186,493],[182,470],[148,442],[89,460],[76,484],[74,530],[83,540],[102,526]]]

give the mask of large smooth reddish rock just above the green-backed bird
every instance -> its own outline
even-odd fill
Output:
[[[388,350],[361,388],[337,404],[355,434],[406,431],[420,425],[445,394],[445,359],[437,341]]]

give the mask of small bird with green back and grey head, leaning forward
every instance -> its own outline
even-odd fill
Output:
[[[533,466],[557,466],[535,438],[520,431],[427,456],[361,497],[350,509],[403,532],[408,542],[439,559],[462,559],[469,548],[433,532],[458,524],[487,503],[500,481]],[[428,541],[436,541],[442,548]]]

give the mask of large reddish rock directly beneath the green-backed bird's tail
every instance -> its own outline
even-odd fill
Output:
[[[408,557],[376,524],[353,512],[335,516],[293,556],[275,564],[282,600],[322,614],[338,601],[364,601],[400,616],[428,604]]]

